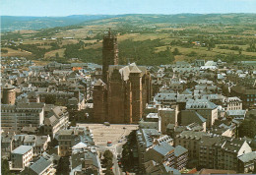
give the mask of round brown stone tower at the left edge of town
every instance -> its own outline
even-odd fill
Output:
[[[16,91],[15,87],[12,87],[11,85],[6,85],[3,87],[3,104],[15,104],[16,99]]]

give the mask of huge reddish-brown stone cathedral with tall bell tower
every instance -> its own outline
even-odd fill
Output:
[[[102,80],[94,86],[94,121],[138,123],[152,96],[146,66],[118,65],[117,37],[109,29],[103,37]]]

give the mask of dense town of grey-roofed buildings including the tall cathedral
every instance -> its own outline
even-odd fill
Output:
[[[256,173],[256,136],[241,127],[256,120],[256,61],[119,65],[109,30],[102,65],[2,57],[1,71],[1,152],[11,172],[56,174],[65,166],[69,174],[102,174],[96,136],[78,125],[97,123],[138,126],[133,143],[124,140],[133,145],[130,172]]]

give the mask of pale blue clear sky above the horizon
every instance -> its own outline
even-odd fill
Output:
[[[256,0],[0,0],[0,15],[256,13]]]

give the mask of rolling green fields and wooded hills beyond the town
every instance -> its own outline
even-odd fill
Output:
[[[256,15],[130,15],[87,22],[79,27],[6,32],[2,33],[1,45],[8,47],[8,53],[2,56],[48,60],[58,53],[64,61],[78,57],[80,61],[101,63],[103,33],[111,27],[117,35],[119,57],[124,64],[127,58],[146,65],[166,64],[168,60],[256,60],[256,21],[252,19]],[[12,45],[10,40],[14,40]],[[175,54],[174,49],[179,53]]]

